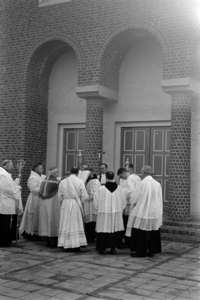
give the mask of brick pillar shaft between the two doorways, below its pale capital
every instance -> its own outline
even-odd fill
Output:
[[[86,104],[85,162],[99,170],[97,152],[103,151],[103,100],[88,98]]]

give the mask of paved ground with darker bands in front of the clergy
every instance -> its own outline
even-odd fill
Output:
[[[200,246],[163,242],[163,253],[132,258],[51,249],[20,239],[0,248],[0,300],[200,299]]]

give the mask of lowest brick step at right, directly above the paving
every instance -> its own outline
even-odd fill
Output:
[[[188,243],[188,244],[200,243],[200,237],[198,236],[188,236],[188,235],[181,235],[181,234],[161,233],[161,239],[164,241],[173,241],[173,242]]]

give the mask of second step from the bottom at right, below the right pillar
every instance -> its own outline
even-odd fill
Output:
[[[185,236],[196,236],[200,240],[200,229],[191,227],[180,227],[180,226],[168,226],[163,225],[161,227],[161,233],[169,233],[173,235],[185,235]]]

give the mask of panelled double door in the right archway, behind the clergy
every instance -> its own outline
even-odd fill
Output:
[[[143,165],[150,165],[153,177],[160,182],[163,200],[168,201],[170,127],[122,128],[121,166],[127,159],[134,173],[141,176]]]

